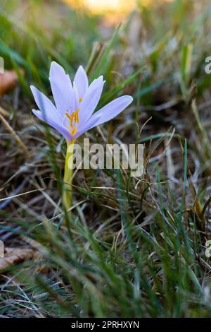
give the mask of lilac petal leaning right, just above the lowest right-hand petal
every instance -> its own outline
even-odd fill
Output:
[[[103,76],[100,76],[89,85],[87,93],[85,93],[79,107],[79,129],[86,124],[94,109],[96,109],[101,98],[104,83]]]

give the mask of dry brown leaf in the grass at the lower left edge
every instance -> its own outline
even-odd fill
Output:
[[[29,261],[34,257],[34,249],[5,248],[4,257],[0,257],[0,271],[21,261]]]

